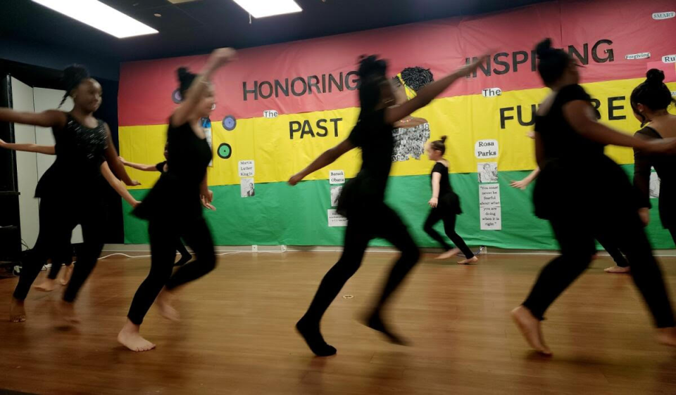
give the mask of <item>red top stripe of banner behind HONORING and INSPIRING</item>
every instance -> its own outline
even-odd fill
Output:
[[[213,78],[218,105],[212,119],[261,117],[265,110],[290,114],[354,107],[357,95],[351,89],[356,87],[356,75],[350,72],[356,69],[358,56],[370,53],[390,60],[391,75],[404,67],[421,66],[439,78],[463,65],[465,58],[479,56],[484,48],[496,49],[490,67],[475,78],[463,79],[444,96],[541,86],[532,71],[532,48],[543,37],[551,37],[558,46],[575,47],[589,63],[582,72],[584,82],[637,78],[645,75],[646,63],[676,53],[671,44],[676,18],[652,18],[653,13],[675,8],[672,0],[553,1],[496,15],[244,49],[237,63],[223,67]],[[645,52],[651,58],[625,58]],[[173,109],[175,70],[187,66],[196,72],[205,60],[206,56],[193,56],[123,64],[120,126],[165,124]],[[284,94],[287,80],[288,96]],[[308,83],[315,86],[308,90]],[[265,98],[270,92],[273,96]]]

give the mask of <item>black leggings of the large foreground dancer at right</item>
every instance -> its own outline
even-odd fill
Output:
[[[622,252],[625,252],[632,266],[634,283],[648,305],[656,326],[674,326],[674,315],[662,272],[653,257],[637,213],[586,220],[568,216],[551,220],[551,226],[561,246],[561,255],[544,266],[523,302],[523,306],[530,309],[535,317],[543,319],[549,305],[589,266],[595,250],[594,238],[602,234],[622,246]]]

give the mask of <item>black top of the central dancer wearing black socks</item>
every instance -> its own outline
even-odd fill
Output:
[[[348,181],[338,200],[337,211],[348,216],[354,209],[367,209],[383,204],[389,171],[392,168],[394,135],[392,125],[384,119],[385,110],[377,110],[359,119],[348,137],[361,148],[361,170]]]

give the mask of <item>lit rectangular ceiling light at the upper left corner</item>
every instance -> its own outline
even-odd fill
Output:
[[[129,15],[120,13],[99,0],[33,0],[47,8],[112,34],[118,39],[158,33]]]

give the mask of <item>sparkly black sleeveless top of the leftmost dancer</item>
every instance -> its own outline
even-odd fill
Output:
[[[63,194],[63,188],[100,188],[104,185],[101,164],[108,148],[106,123],[96,119],[98,124],[89,128],[66,114],[65,127],[53,128],[56,141],[56,160],[47,169],[35,188],[35,197]],[[98,195],[98,193],[95,193]]]

